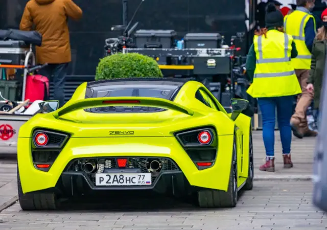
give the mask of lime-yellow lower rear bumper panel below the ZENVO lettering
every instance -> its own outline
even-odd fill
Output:
[[[178,171],[167,172],[167,174],[182,172],[191,186],[226,191],[229,180],[233,135],[218,135],[218,143],[219,148],[215,164],[211,168],[199,170],[174,136],[71,138],[50,170],[43,172],[33,165],[30,150],[31,139],[19,137],[17,148],[18,169],[22,190],[24,193],[28,193],[54,188],[63,174],[69,174],[65,171],[68,164],[77,158],[165,157],[171,159],[178,167]],[[83,176],[83,173],[75,173],[75,175],[77,174],[88,181],[90,188],[105,189],[92,186],[85,175]],[[149,189],[155,187],[155,181],[151,186]],[[106,189],[113,188],[106,187]]]

